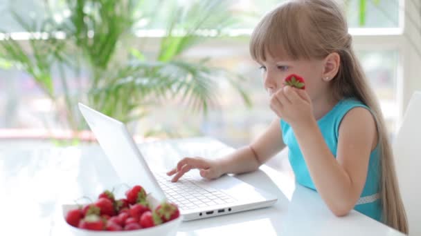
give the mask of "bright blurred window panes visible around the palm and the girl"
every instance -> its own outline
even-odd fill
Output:
[[[66,14],[66,10],[60,5],[61,1],[51,2],[54,2],[55,12]],[[146,2],[149,4],[147,6],[153,9],[154,1]],[[234,1],[231,6],[233,13],[240,10],[251,12],[249,17],[244,17],[236,27],[250,32],[262,14],[280,2]],[[179,3],[187,4],[190,1],[179,0]],[[360,3],[359,0],[346,1],[350,32],[360,62],[380,100],[388,129],[393,134],[402,117],[404,106],[411,97],[413,88],[410,87],[421,88],[421,84],[416,80],[416,75],[420,75],[420,68],[413,66],[419,59],[411,50],[402,30],[404,19],[410,14],[404,11],[403,6],[413,8],[415,13],[417,5],[412,0],[367,0],[365,7],[361,7],[366,9],[365,17],[361,19]],[[43,1],[8,1],[6,6],[0,6],[0,13],[4,16],[0,19],[0,26],[9,32],[22,31],[12,20],[10,8],[22,12],[27,12],[28,9],[42,12],[42,4]],[[31,14],[27,14],[28,17]],[[57,20],[60,20],[60,14],[57,13]],[[420,21],[416,17],[420,17],[419,14],[415,14],[414,19]],[[364,26],[361,26],[361,21],[364,21]],[[228,68],[249,78],[244,87],[253,100],[253,108],[243,106],[240,97],[229,86],[220,84],[220,107],[211,110],[207,117],[179,112],[174,104],[168,103],[156,108],[137,126],[131,126],[134,130],[144,133],[148,128],[159,126],[175,135],[211,135],[232,146],[247,144],[262,132],[274,118],[274,114],[267,105],[268,96],[262,89],[257,65],[249,56],[248,38],[212,39],[195,46],[185,57],[194,60],[204,55],[213,58],[213,65]],[[84,77],[86,79],[86,75]],[[60,121],[51,117],[49,105],[51,104],[46,96],[28,75],[17,70],[0,70],[0,113],[6,114],[3,116],[6,119],[0,120],[0,128],[56,127]]]

